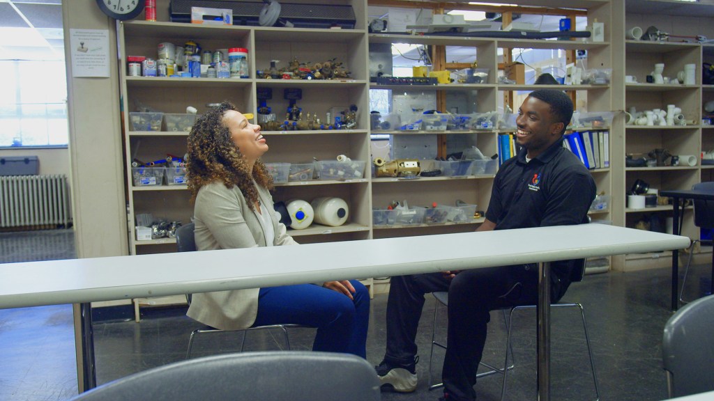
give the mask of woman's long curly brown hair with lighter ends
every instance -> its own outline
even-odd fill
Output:
[[[248,163],[231,139],[223,120],[226,111],[236,110],[236,106],[223,101],[219,106],[196,118],[196,123],[188,134],[188,191],[191,191],[191,203],[196,201],[198,190],[213,181],[222,181],[227,188],[238,186],[248,200],[248,207],[253,210],[259,201],[258,190],[253,184],[273,189],[273,178],[265,164],[258,159],[253,171],[248,171]]]

